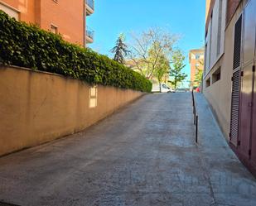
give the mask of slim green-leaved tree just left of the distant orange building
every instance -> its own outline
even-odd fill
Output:
[[[176,89],[177,84],[181,83],[186,79],[187,74],[182,72],[182,69],[186,66],[184,65],[185,56],[182,54],[181,50],[175,50],[171,56],[171,69],[170,77],[171,84],[174,89]]]

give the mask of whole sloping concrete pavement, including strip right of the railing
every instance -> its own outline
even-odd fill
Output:
[[[85,132],[0,159],[0,201],[27,205],[256,205],[256,180],[202,95],[149,94]]]

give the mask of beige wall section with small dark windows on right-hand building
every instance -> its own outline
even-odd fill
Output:
[[[232,75],[233,75],[233,48],[234,48],[234,23],[239,18],[243,6],[240,5],[235,12],[229,26],[225,30],[225,54],[210,69],[210,72],[204,78],[204,94],[210,103],[220,127],[229,139],[231,93],[232,93]],[[221,66],[221,78],[212,84],[212,74]],[[205,88],[205,80],[211,80],[210,87]]]

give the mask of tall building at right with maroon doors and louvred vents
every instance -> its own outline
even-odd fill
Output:
[[[256,175],[255,0],[207,0],[203,91],[229,145]]]

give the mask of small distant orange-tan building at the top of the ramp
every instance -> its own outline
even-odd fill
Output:
[[[195,80],[196,74],[204,69],[204,50],[190,50],[189,63],[191,65],[191,86],[199,86],[198,83],[195,83]]]

